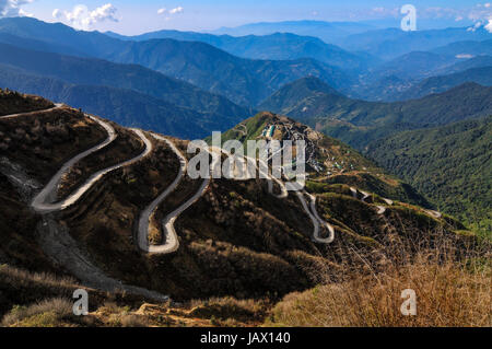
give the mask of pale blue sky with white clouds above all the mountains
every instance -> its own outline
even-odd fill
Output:
[[[475,23],[492,27],[492,2],[487,0],[0,0],[0,16],[30,15],[78,30],[136,35],[288,20],[397,23],[403,16],[399,10],[407,3],[417,8],[425,28]]]

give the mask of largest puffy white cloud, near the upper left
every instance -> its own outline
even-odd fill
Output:
[[[117,9],[112,3],[106,3],[93,11],[90,11],[84,4],[78,4],[72,11],[63,11],[63,13],[59,9],[56,9],[52,11],[52,16],[56,19],[65,18],[73,27],[86,31],[99,22],[118,22],[116,12]]]

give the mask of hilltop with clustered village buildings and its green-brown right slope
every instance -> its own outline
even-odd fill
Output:
[[[263,136],[263,131],[271,126],[276,127],[273,136]],[[309,173],[307,187],[315,193],[321,194],[325,189],[337,185],[355,186],[383,197],[423,207],[430,206],[409,185],[388,176],[352,148],[288,117],[260,113],[222,136],[223,141],[231,139],[241,140],[245,147],[249,140],[304,139],[307,143],[306,171]]]

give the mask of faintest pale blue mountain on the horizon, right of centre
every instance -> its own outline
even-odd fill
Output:
[[[233,36],[293,33],[315,36],[325,43],[337,44],[348,35],[363,33],[372,28],[374,28],[373,25],[356,22],[284,21],[250,23],[237,27],[222,27],[211,33]]]

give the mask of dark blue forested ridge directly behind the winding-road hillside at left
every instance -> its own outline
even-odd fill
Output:
[[[0,85],[71,103],[127,126],[184,138],[225,130],[253,115],[227,98],[139,66],[0,44]]]

